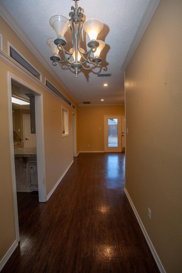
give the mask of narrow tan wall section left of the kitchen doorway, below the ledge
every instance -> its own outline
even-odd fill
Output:
[[[11,161],[9,143],[9,120],[8,120],[8,95],[7,95],[7,72],[3,62],[0,61],[0,260],[14,243],[15,219],[13,206],[13,189],[11,180]]]

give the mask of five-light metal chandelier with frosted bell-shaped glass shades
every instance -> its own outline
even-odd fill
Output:
[[[50,58],[52,65],[55,66],[59,64],[63,69],[73,68],[77,78],[79,69],[84,68],[90,70],[93,66],[99,67],[99,63],[102,61],[100,52],[104,48],[105,43],[101,40],[97,40],[97,36],[103,28],[103,23],[95,18],[84,21],[82,19],[83,13],[81,12],[81,7],[78,7],[77,4],[79,0],[73,1],[75,1],[75,7],[71,7],[72,11],[69,13],[70,19],[61,15],[55,15],[49,20],[51,27],[56,32],[57,38],[49,38],[47,44],[53,54]],[[82,28],[90,37],[90,42],[87,44],[90,50],[87,52],[80,47]],[[69,29],[71,29],[73,47],[69,51],[66,51],[64,46],[67,43],[64,40],[64,36]],[[60,51],[63,52],[63,60],[58,56]],[[91,59],[91,53],[94,53],[93,59]],[[80,61],[81,58],[82,61]],[[70,59],[72,59],[72,61]],[[64,65],[64,63],[66,63],[66,65]],[[89,63],[90,67],[84,67],[85,63]]]

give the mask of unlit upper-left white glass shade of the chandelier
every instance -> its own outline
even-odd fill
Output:
[[[61,39],[64,38],[65,33],[71,27],[70,21],[62,15],[55,15],[51,17],[49,23],[53,30],[56,32],[57,38]]]

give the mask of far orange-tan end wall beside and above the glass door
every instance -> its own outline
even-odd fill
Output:
[[[104,115],[124,114],[124,105],[79,106],[80,151],[104,151]],[[88,144],[90,147],[88,147]]]

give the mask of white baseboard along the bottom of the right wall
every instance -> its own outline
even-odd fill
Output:
[[[128,200],[129,200],[129,202],[130,202],[130,205],[131,205],[131,207],[133,209],[133,212],[135,213],[137,221],[138,221],[138,223],[139,223],[139,225],[140,225],[140,227],[142,229],[143,235],[144,235],[144,237],[145,237],[145,239],[147,241],[147,244],[148,244],[148,246],[150,248],[150,251],[151,251],[151,253],[152,253],[153,257],[154,257],[154,260],[156,261],[156,264],[157,264],[157,266],[159,268],[159,271],[161,273],[166,273],[166,271],[164,270],[164,267],[163,267],[158,255],[157,255],[157,253],[156,253],[156,250],[154,249],[154,246],[152,245],[152,242],[150,241],[150,238],[149,238],[149,236],[148,236],[148,234],[147,234],[147,232],[146,232],[146,230],[144,228],[144,225],[143,225],[143,223],[142,223],[142,221],[141,221],[141,219],[140,219],[140,217],[138,215],[138,212],[137,212],[137,210],[136,210],[136,208],[135,208],[135,206],[134,206],[134,204],[133,204],[133,202],[132,202],[126,188],[124,188],[124,192],[125,192]]]

